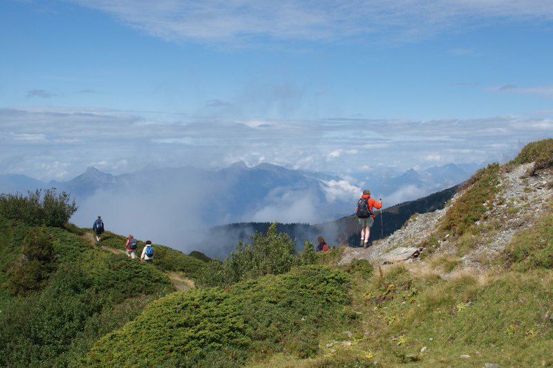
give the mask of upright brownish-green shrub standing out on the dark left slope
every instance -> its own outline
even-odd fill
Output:
[[[55,270],[52,238],[46,229],[29,231],[21,246],[21,255],[8,269],[7,287],[12,295],[24,296],[40,290]]]

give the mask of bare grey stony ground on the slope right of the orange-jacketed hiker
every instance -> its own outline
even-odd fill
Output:
[[[529,175],[533,165],[514,166],[500,174],[500,191],[485,220],[477,224],[482,235],[469,239],[471,246],[461,257],[465,266],[487,268],[488,261],[503,251],[516,231],[527,229],[551,205],[553,171],[547,169]],[[412,262],[424,253],[419,244],[432,236],[449,206],[461,195],[462,192],[457,193],[442,210],[414,215],[402,229],[374,242],[368,249],[346,248],[339,264],[347,264],[354,259],[366,259],[377,264]],[[458,240],[451,241],[449,235],[445,235],[438,242],[436,253],[458,255]]]

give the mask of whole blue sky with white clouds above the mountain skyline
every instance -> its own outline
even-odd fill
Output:
[[[553,133],[548,0],[3,0],[0,31],[0,173],[348,175]]]

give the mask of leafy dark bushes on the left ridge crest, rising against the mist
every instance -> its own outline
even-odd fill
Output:
[[[12,220],[21,220],[30,225],[64,226],[77,211],[77,204],[66,192],[55,189],[17,194],[0,195],[0,213]]]

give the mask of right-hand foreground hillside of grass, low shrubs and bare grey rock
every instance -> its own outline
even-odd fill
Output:
[[[305,249],[289,273],[162,298],[97,342],[88,363],[138,362],[123,348],[145,345],[151,354],[142,359],[169,365],[551,366],[552,196],[550,140],[527,146],[509,165],[479,171],[444,209],[413,216],[393,236],[341,265],[348,247]],[[523,218],[515,216],[518,210]],[[261,257],[263,249],[278,254],[278,244],[264,242],[257,244],[266,247],[259,248]],[[422,249],[422,255],[382,265],[382,255],[405,246]],[[241,279],[250,269],[260,271],[247,258],[250,250],[239,247],[225,263],[232,272],[243,268]],[[366,255],[376,269],[367,267]],[[225,267],[214,262],[209,269]],[[319,284],[323,280],[327,287]],[[311,301],[315,305],[303,309]],[[330,320],[311,314],[326,306]],[[196,307],[209,325],[194,319]],[[259,331],[257,322],[266,329],[250,335]]]

